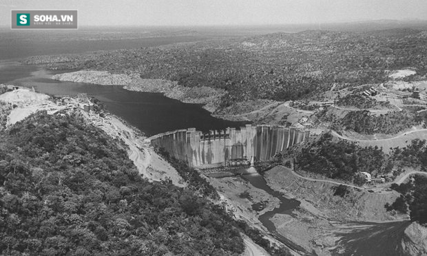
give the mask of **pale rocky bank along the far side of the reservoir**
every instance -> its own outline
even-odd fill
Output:
[[[93,83],[96,85],[124,85],[124,89],[135,92],[163,93],[168,98],[183,103],[202,104],[210,112],[216,111],[225,90],[211,87],[183,87],[176,81],[163,79],[143,79],[139,74],[112,74],[107,71],[81,70],[77,72],[56,74],[52,79],[76,83]]]

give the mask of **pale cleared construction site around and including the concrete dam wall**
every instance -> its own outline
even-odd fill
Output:
[[[364,185],[355,186],[350,182],[328,179],[313,173],[295,172],[280,165],[270,169],[278,163],[265,166],[269,171],[262,176],[258,172],[264,167],[248,167],[257,166],[260,162],[269,163],[271,158],[289,147],[298,147],[311,136],[331,131],[329,122],[325,122],[317,115],[325,110],[337,116],[360,110],[380,116],[390,111],[403,111],[409,106],[419,107],[417,111],[422,114],[427,107],[425,87],[427,85],[423,83],[406,85],[401,81],[393,81],[361,89],[358,94],[390,104],[388,107],[369,109],[338,105],[336,100],[338,93],[343,97],[354,92],[346,89],[340,92],[331,91],[328,92],[329,100],[313,101],[308,104],[271,103],[263,109],[242,115],[249,119],[269,120],[271,125],[246,125],[240,129],[212,130],[207,133],[189,128],[157,134],[150,138],[146,138],[138,129],[103,110],[94,103],[93,98],[85,94],[76,97],[50,97],[38,94],[32,89],[15,87],[12,91],[2,94],[0,100],[16,105],[8,116],[8,125],[41,110],[59,116],[79,114],[94,127],[121,141],[127,147],[129,159],[134,162],[143,177],[152,181],[167,180],[177,186],[187,186],[178,172],[158,156],[154,149],[163,147],[171,156],[187,162],[191,167],[197,167],[202,176],[216,188],[225,209],[236,218],[256,226],[271,241],[280,240],[283,235],[286,239],[280,241],[288,241],[289,246],[300,245],[296,247],[297,251],[310,251],[314,248],[316,253],[329,255],[329,251],[339,249],[337,244],[340,236],[336,235],[337,231],[349,234],[355,231],[355,228],[366,228],[363,225],[349,226],[344,223],[348,220],[366,222],[406,220],[407,216],[387,213],[384,203],[391,203],[397,198],[397,193],[390,190],[390,184],[405,182],[417,171],[407,169],[397,178],[377,177],[369,172],[360,172],[358,174],[364,178]],[[280,125],[284,116],[291,126]],[[400,134],[364,135],[349,131],[331,131],[331,134],[335,138],[354,141],[362,146],[377,145],[386,151],[393,145],[399,147],[408,145],[410,138],[422,138],[424,132],[427,130],[413,127]],[[236,169],[236,172],[232,169]],[[225,178],[209,178],[217,177],[211,173],[227,171],[231,175],[218,175]],[[333,195],[337,186],[351,189],[350,196],[344,199]],[[287,199],[276,195],[270,188],[284,193]],[[292,206],[294,208],[289,210],[292,215],[279,213],[281,205],[285,205],[283,200],[292,198],[297,199],[300,206]],[[353,201],[358,203],[355,204]],[[336,220],[331,222],[327,218],[328,215],[334,215]]]

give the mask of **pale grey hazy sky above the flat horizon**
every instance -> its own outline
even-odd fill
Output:
[[[85,25],[282,25],[427,19],[427,0],[0,0],[10,10],[79,10]]]

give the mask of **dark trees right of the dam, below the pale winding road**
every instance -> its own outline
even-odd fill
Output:
[[[292,150],[292,149],[291,149]],[[402,167],[427,170],[427,141],[413,140],[406,147],[396,147],[385,154],[376,147],[360,147],[346,140],[333,139],[331,134],[304,145],[302,149],[293,149],[295,167],[311,173],[325,175],[329,178],[357,182],[355,173],[366,171],[375,175],[389,173]],[[289,156],[284,156],[289,158]],[[427,177],[416,175],[415,182],[392,184],[391,189],[402,193],[393,202],[386,204],[388,211],[410,212],[413,222],[427,224]],[[336,186],[334,195],[344,197],[348,193],[345,186]]]

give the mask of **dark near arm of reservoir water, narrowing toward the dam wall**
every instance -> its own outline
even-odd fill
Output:
[[[134,125],[146,136],[189,127],[209,131],[248,123],[214,118],[201,105],[181,103],[163,94],[131,92],[122,86],[53,81],[50,76],[55,73],[59,72],[14,62],[0,63],[0,83],[34,87],[36,92],[56,96],[85,93],[100,100],[108,111]]]

